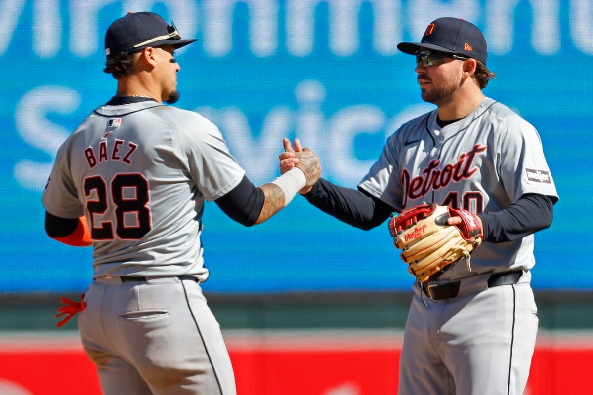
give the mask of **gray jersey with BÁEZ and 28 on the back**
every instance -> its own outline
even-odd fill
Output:
[[[232,190],[244,174],[201,115],[154,101],[106,105],[60,147],[43,204],[55,216],[87,215],[95,277],[204,281],[204,201]]]

